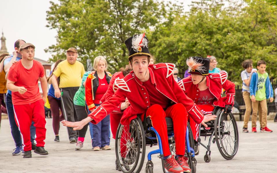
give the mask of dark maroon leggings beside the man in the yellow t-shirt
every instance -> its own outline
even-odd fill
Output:
[[[61,109],[61,100],[55,99],[54,97],[47,96],[49,103],[50,103],[50,110],[52,114],[52,125],[55,135],[59,134],[60,129],[60,121],[64,120],[63,111]]]

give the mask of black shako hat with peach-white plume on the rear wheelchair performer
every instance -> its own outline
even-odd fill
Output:
[[[202,57],[189,57],[187,59],[188,73],[208,75],[210,67],[210,59]]]

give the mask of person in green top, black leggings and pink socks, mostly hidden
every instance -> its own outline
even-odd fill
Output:
[[[85,81],[87,80],[87,76],[89,75],[89,72],[86,72],[82,78],[81,85],[78,89],[78,91],[74,95],[73,103],[74,103],[74,109],[76,110],[76,114],[78,117],[77,121],[81,121],[87,117],[87,111],[86,111],[86,103],[85,103]],[[87,132],[87,125],[84,126],[83,129],[78,130],[78,140],[75,147],[75,150],[81,150],[83,147],[83,142],[85,139],[85,135]]]

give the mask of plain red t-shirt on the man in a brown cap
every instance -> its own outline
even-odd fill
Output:
[[[14,82],[15,86],[24,86],[27,91],[24,94],[12,91],[12,104],[30,104],[42,99],[38,88],[38,79],[44,76],[42,64],[33,60],[33,67],[25,69],[21,60],[12,65],[8,73],[8,79]]]

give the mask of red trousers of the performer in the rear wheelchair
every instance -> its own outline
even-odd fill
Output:
[[[213,113],[214,106],[212,106],[212,105],[197,105],[197,106],[199,107],[199,109],[201,109],[201,112],[204,115]],[[193,119],[190,117],[190,128],[191,128],[191,131],[192,131],[193,138],[196,141],[197,141],[197,138],[198,138],[199,133],[200,133],[199,126],[200,126],[200,124],[196,124],[193,121]]]

